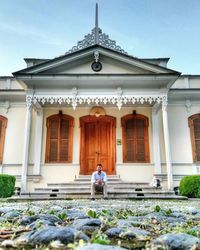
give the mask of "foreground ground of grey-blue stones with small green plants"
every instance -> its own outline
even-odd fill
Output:
[[[1,249],[200,249],[200,202],[1,202]]]

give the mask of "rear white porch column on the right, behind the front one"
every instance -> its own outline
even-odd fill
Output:
[[[162,174],[158,110],[159,110],[158,106],[152,107],[153,150],[154,150],[154,171],[155,171],[154,174]]]

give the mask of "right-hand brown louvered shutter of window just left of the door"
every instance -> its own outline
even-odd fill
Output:
[[[69,155],[69,121],[61,119],[60,122],[60,161],[68,161]]]

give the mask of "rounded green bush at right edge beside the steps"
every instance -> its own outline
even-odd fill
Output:
[[[200,175],[185,176],[180,182],[180,194],[188,198],[200,198]]]

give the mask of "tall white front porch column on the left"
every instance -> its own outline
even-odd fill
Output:
[[[22,159],[22,173],[21,173],[21,192],[26,192],[27,172],[28,172],[28,159],[29,159],[29,142],[31,131],[31,113],[32,105],[27,105],[26,110],[26,127],[25,127],[25,140],[24,140],[24,153]]]

